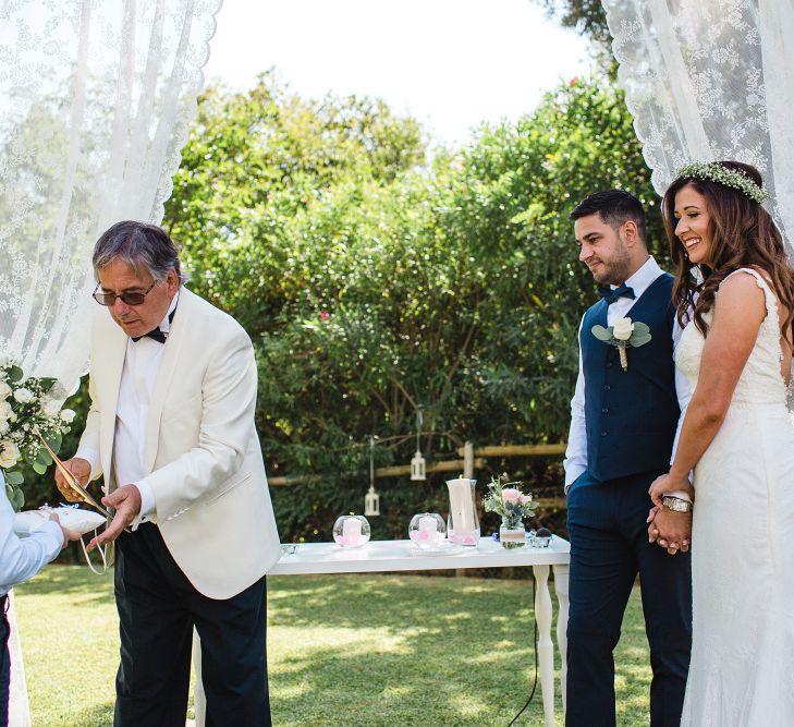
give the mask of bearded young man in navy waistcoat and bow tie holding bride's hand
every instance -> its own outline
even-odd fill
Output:
[[[571,213],[579,260],[601,300],[579,328],[579,375],[571,402],[565,453],[571,538],[567,623],[569,727],[615,724],[614,662],[623,613],[639,574],[653,679],[650,724],[677,727],[692,643],[689,555],[671,557],[648,542],[648,487],[669,470],[685,381],[673,348],[680,330],[671,304],[673,277],[648,255],[645,213],[621,190],[598,192]],[[594,326],[642,322],[651,338],[619,349]],[[676,393],[677,389],[677,393]],[[662,508],[663,532],[687,530],[688,513]]]

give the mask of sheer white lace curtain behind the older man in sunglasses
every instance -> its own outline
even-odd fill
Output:
[[[85,371],[90,252],[160,222],[221,0],[0,2],[0,355]]]

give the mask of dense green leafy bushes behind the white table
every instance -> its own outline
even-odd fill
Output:
[[[200,99],[163,225],[191,288],[254,341],[268,473],[309,477],[272,488],[284,541],[328,540],[338,514],[361,512],[368,435],[376,467],[407,463],[419,405],[428,461],[457,459],[467,439],[565,439],[576,330],[595,298],[567,219],[583,197],[639,196],[665,262],[650,173],[608,74],[561,82],[462,150],[429,144],[380,101],[302,99],[273,73]],[[78,415],[85,399],[71,402]],[[559,461],[488,468],[561,493]],[[444,512],[443,478],[377,482],[374,537]]]

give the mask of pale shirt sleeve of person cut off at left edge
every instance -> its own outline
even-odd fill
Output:
[[[14,509],[5,497],[5,477],[0,470],[0,596],[17,583],[33,578],[63,547],[63,531],[44,520],[27,537],[14,533]]]

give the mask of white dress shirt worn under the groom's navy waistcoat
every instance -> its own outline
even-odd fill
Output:
[[[611,326],[619,318],[624,318],[631,307],[637,302],[637,299],[650,287],[650,284],[662,274],[662,269],[652,257],[648,257],[643,267],[640,267],[631,278],[626,280],[626,286],[634,289],[634,299],[619,298],[607,308],[607,325]],[[615,288],[616,286],[612,286]],[[584,316],[582,318],[584,322]],[[579,343],[582,336],[582,324],[579,324]],[[679,322],[673,324],[673,349],[679,344],[681,339],[681,327]],[[686,405],[692,398],[692,387],[686,377],[675,368],[675,393],[679,399],[681,416],[679,417],[679,426],[675,433],[673,450],[670,459],[672,461],[675,452],[675,446],[679,441],[681,424],[684,421],[684,412]],[[571,400],[571,429],[567,437],[567,449],[565,450],[565,492],[571,483],[576,480],[587,469],[587,428],[585,426],[585,375],[582,369],[582,346],[579,344],[579,374],[576,378],[576,390]],[[688,499],[688,497],[687,497]]]

